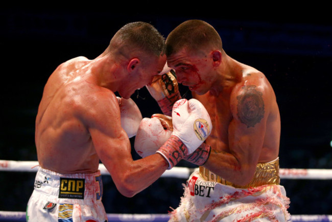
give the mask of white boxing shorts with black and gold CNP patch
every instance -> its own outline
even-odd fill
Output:
[[[27,221],[107,221],[102,195],[100,171],[60,174],[39,168]]]

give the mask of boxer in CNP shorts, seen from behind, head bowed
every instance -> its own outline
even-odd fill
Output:
[[[207,112],[198,101],[180,100],[175,104],[182,117],[174,119],[167,142],[149,157],[131,156],[129,137],[142,116],[130,96],[163,70],[164,52],[164,38],[151,24],[129,23],[97,58],[73,58],[52,73],[36,117],[40,169],[27,209],[30,221],[105,221],[100,161],[117,190],[132,197],[201,145],[191,141],[200,136],[193,124]]]

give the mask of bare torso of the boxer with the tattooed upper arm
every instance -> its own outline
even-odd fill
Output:
[[[255,82],[258,83],[260,87],[264,87],[265,96],[268,96],[270,101],[270,104],[265,104],[265,106],[270,106],[271,108],[270,113],[267,114],[266,135],[263,149],[258,159],[258,163],[269,162],[278,157],[280,115],[273,89],[262,73],[248,66],[247,69],[243,70],[242,80],[235,84],[230,83],[229,87],[225,87],[218,96],[207,92],[201,96],[193,93],[193,97],[202,102],[212,121],[213,128],[210,136],[206,140],[207,144],[211,145],[213,149],[229,153],[228,129],[231,121],[233,121],[230,97],[232,94],[235,95],[237,93],[236,91],[248,82]]]

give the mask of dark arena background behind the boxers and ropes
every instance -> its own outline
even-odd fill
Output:
[[[76,56],[93,59],[126,23],[143,20],[165,37],[182,21],[203,19],[216,28],[226,53],[265,73],[281,115],[281,168],[332,169],[332,23],[327,6],[260,5],[258,10],[188,3],[147,2],[122,8],[99,2],[84,9],[50,5],[0,9],[0,160],[36,161],[34,121],[43,86],[53,70]],[[91,3],[89,3],[91,4]],[[139,3],[141,4],[141,2]],[[272,5],[271,5],[272,4]],[[314,4],[314,3],[313,3]],[[210,7],[210,9],[209,9]],[[180,85],[183,95],[187,88]],[[186,98],[190,98],[188,93]],[[144,117],[160,113],[146,88],[132,99]],[[133,141],[133,140],[131,140]],[[134,158],[137,158],[133,152]],[[178,166],[194,167],[185,162]],[[25,211],[35,173],[0,172],[0,211]],[[176,208],[185,180],[160,178],[132,198],[103,176],[107,213],[167,213]],[[281,180],[291,214],[331,214],[330,180]]]

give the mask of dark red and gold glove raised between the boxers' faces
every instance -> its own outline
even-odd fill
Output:
[[[164,69],[154,76],[152,83],[146,87],[157,101],[162,113],[171,116],[173,104],[181,99],[174,70],[169,68],[166,63]]]

